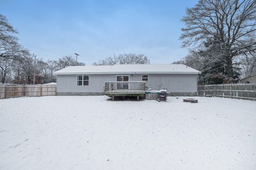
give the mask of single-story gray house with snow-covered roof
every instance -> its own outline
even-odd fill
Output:
[[[54,72],[57,95],[104,95],[106,81],[145,81],[152,90],[196,95],[198,73],[183,64],[69,66]]]

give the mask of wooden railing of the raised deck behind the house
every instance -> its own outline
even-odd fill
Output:
[[[106,81],[105,82],[106,95],[136,95],[145,94],[145,81]]]

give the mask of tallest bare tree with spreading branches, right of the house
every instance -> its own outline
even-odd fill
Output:
[[[182,18],[183,47],[205,41],[219,44],[216,51],[223,58],[227,76],[234,77],[233,59],[256,50],[256,1],[255,0],[199,0],[195,7],[187,8]]]

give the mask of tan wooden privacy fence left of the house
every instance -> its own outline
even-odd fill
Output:
[[[0,99],[24,96],[54,96],[56,85],[6,85],[0,86]]]

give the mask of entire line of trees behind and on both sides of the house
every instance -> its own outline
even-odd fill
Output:
[[[201,71],[199,84],[236,83],[256,74],[256,1],[199,0],[181,19],[182,47],[189,54],[174,64]],[[76,63],[71,56],[58,60],[39,59],[18,43],[17,30],[0,14],[0,78],[10,83],[54,82],[54,71]],[[93,65],[149,64],[143,54],[119,54]]]

